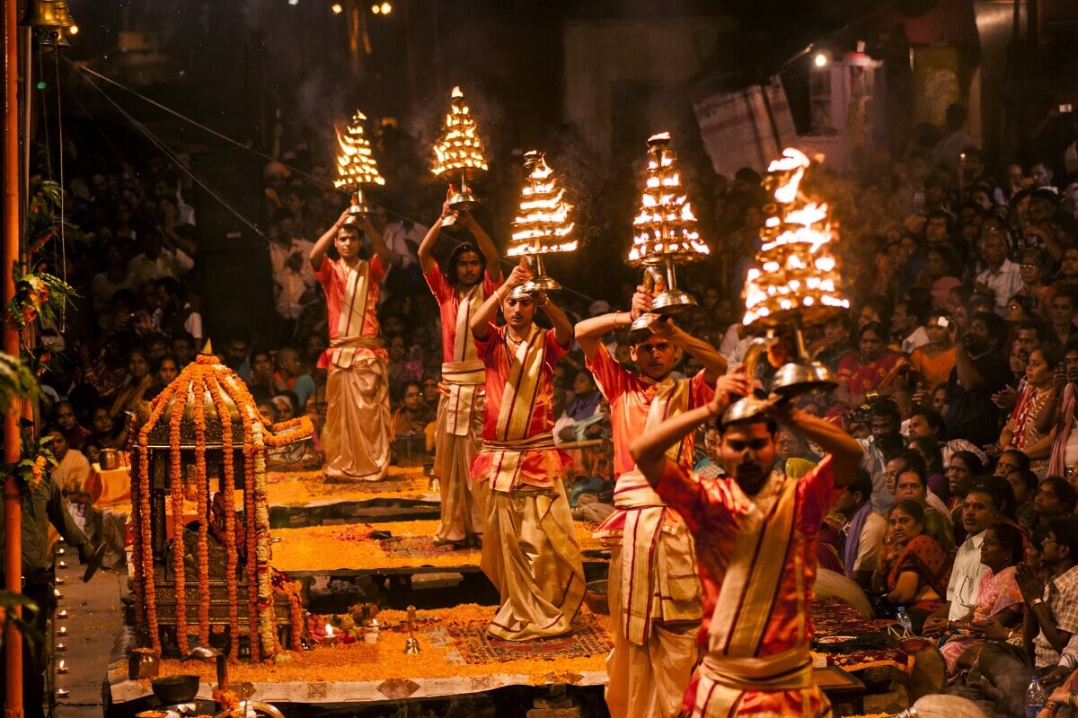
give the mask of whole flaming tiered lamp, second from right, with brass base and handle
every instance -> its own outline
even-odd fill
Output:
[[[681,188],[677,155],[671,150],[671,133],[648,138],[648,179],[640,213],[633,220],[633,249],[626,264],[644,267],[645,286],[652,292],[651,314],[633,322],[630,333],[642,338],[655,315],[669,315],[696,305],[691,294],[677,286],[676,267],[705,259],[710,253],[700,238],[696,216]]]

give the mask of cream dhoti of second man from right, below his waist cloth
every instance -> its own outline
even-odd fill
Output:
[[[607,657],[607,708],[610,718],[675,718],[696,665],[700,621],[652,621],[642,646],[625,637],[622,608],[622,549],[610,551],[607,602],[613,650]]]

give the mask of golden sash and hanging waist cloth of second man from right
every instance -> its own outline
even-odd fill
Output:
[[[657,385],[641,434],[689,408],[689,379],[667,378]],[[685,446],[685,441],[677,442],[666,456],[680,463]],[[701,618],[692,537],[683,531],[683,540],[660,540],[666,503],[635,466],[618,477],[613,505],[624,513],[621,609],[625,636],[642,646],[653,620]]]

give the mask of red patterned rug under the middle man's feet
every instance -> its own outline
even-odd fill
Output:
[[[613,648],[610,635],[589,615],[577,619],[570,634],[536,640],[494,638],[486,633],[486,624],[451,624],[446,632],[466,663],[586,658],[606,656]]]

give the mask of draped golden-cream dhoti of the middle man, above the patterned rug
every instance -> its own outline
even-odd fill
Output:
[[[490,635],[527,640],[571,630],[584,566],[561,479],[549,490],[490,492],[481,565],[501,596]]]

